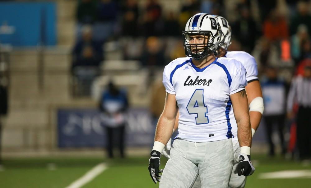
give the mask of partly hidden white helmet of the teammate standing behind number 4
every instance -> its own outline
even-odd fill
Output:
[[[221,41],[219,47],[227,50],[231,44],[231,27],[229,25],[229,22],[224,17],[216,15],[214,16],[216,17],[221,27]]]

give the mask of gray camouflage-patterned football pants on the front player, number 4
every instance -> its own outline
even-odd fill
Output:
[[[204,188],[227,188],[233,167],[232,139],[214,142],[174,140],[160,188],[191,188],[200,174]]]

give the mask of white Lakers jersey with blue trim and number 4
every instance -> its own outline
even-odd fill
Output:
[[[231,138],[230,95],[245,88],[245,75],[241,62],[225,57],[202,69],[189,57],[165,66],[163,84],[166,92],[176,94],[179,107],[177,137],[192,142]]]

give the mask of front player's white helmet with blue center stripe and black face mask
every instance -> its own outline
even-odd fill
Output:
[[[204,35],[208,37],[207,43],[189,44],[191,35]],[[221,40],[221,27],[217,19],[205,13],[199,13],[192,16],[183,31],[183,47],[188,57],[196,60],[203,59],[215,52],[219,48]],[[193,50],[195,48],[195,50]],[[203,50],[202,50],[203,48]]]

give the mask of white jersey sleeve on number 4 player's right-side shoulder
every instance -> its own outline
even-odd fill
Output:
[[[232,81],[230,85],[230,95],[235,94],[247,85],[245,67],[239,62],[239,65],[232,71]]]

